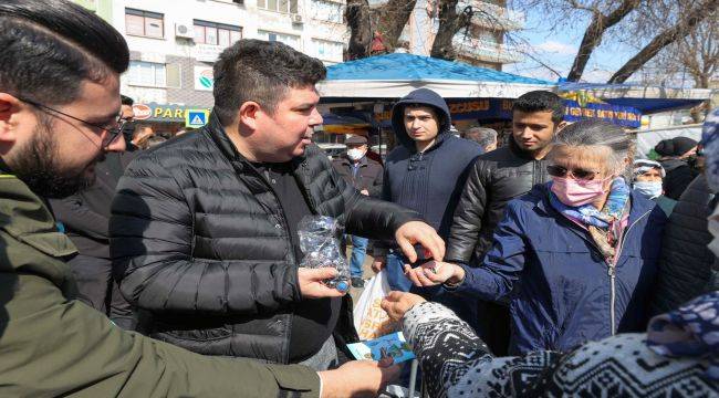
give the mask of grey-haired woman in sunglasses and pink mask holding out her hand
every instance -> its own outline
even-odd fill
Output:
[[[509,203],[479,266],[428,262],[407,276],[442,294],[509,298],[514,355],[644,329],[666,216],[631,190],[632,158],[618,126],[566,127],[549,155],[552,181]]]

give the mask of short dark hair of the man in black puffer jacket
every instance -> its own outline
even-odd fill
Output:
[[[320,60],[286,44],[250,39],[222,51],[213,72],[215,112],[223,125],[248,101],[274,113],[286,90],[314,86],[327,73]]]

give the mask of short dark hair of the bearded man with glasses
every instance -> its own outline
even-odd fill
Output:
[[[0,92],[42,104],[71,103],[83,80],[129,63],[119,32],[65,0],[0,1]]]

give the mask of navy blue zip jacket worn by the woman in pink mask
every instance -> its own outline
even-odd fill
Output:
[[[548,192],[546,185],[536,185],[509,202],[483,264],[465,266],[465,281],[451,291],[490,301],[509,295],[511,354],[566,352],[614,333],[645,329],[664,211],[632,192],[612,283],[592,238],[552,208]]]

